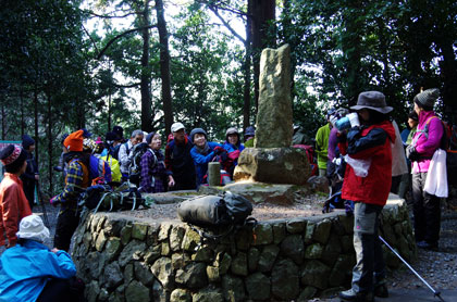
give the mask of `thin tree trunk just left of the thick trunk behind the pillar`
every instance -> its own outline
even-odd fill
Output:
[[[246,20],[246,40],[245,40],[245,86],[243,91],[243,129],[250,126],[250,66],[252,55],[252,20],[249,17],[250,10],[248,7],[248,17]]]

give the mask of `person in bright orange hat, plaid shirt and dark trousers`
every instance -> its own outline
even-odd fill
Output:
[[[61,204],[55,226],[54,247],[69,251],[73,232],[79,224],[81,209],[77,206],[81,193],[90,185],[89,158],[83,152],[84,131],[70,134],[63,141],[64,162],[67,163],[65,187],[63,191],[53,197],[50,203],[54,206]]]

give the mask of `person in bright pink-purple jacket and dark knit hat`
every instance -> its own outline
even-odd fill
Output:
[[[415,215],[415,237],[418,248],[436,250],[440,239],[440,198],[424,191],[427,174],[433,153],[440,148],[444,135],[443,124],[433,112],[440,97],[436,88],[427,89],[413,99],[419,125],[412,143],[407,148],[412,162],[412,212]]]

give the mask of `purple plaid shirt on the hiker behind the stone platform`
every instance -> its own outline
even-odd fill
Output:
[[[147,193],[159,193],[165,191],[166,169],[163,162],[163,153],[160,150],[149,149],[141,156],[141,183],[139,191]],[[156,155],[156,164],[152,166]]]

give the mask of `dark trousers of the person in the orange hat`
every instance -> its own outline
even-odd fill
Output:
[[[72,236],[79,224],[79,212],[74,209],[61,209],[55,226],[54,247],[69,252]]]

